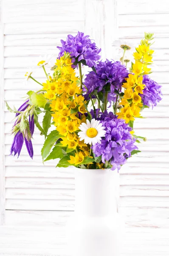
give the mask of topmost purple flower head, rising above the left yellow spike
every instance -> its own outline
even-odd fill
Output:
[[[62,47],[57,47],[59,57],[64,55],[64,52],[70,52],[70,56],[73,62],[78,61],[83,64],[93,67],[96,61],[100,59],[99,52],[101,49],[96,47],[96,44],[89,39],[89,35],[84,35],[82,32],[78,32],[76,36],[68,35],[66,41],[61,40]]]

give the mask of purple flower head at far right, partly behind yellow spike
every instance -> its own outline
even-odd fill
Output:
[[[143,84],[145,84],[143,94],[140,94],[143,104],[153,108],[162,99],[161,85],[147,75],[143,76]]]

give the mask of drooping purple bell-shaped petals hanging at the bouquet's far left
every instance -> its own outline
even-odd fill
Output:
[[[24,102],[23,105],[20,106],[18,111],[25,111],[26,108],[28,108],[27,102],[28,101]],[[16,113],[15,116],[19,116],[19,115],[20,115],[20,113]],[[17,120],[15,121],[14,126],[17,125],[20,122],[20,121],[17,122]],[[13,126],[13,128],[14,128],[14,126]],[[32,135],[34,134],[34,115],[32,115],[31,117],[29,115],[29,130],[30,130],[31,137],[32,137]],[[14,152],[14,156],[16,154],[18,154],[18,157],[19,157],[20,151],[23,147],[23,141],[25,140],[25,145],[26,145],[28,154],[31,158],[33,158],[34,150],[33,150],[31,139],[27,137],[27,134],[28,134],[28,132],[27,132],[26,129],[24,131],[24,136],[23,136],[23,133],[21,133],[21,131],[18,131],[17,134],[15,134],[14,140],[12,142],[11,149],[10,149],[11,155]]]

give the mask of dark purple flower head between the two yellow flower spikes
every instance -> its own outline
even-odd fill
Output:
[[[95,67],[94,71],[89,72],[85,78],[85,87],[87,88],[87,94],[91,94],[94,91],[102,91],[106,85],[110,87],[110,100],[115,100],[115,89],[121,91],[121,85],[128,76],[128,71],[120,61],[100,61]],[[83,89],[83,91],[86,91]]]

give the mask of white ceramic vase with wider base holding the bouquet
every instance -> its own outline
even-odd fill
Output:
[[[68,254],[119,256],[124,223],[117,213],[119,176],[110,169],[75,171],[75,212],[68,220]]]

